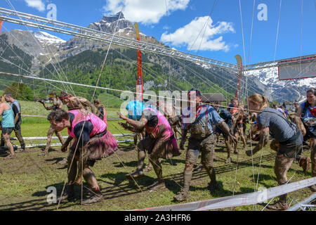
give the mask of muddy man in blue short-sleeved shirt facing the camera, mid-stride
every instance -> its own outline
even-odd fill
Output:
[[[182,202],[189,198],[192,170],[193,166],[197,163],[197,158],[199,158],[200,152],[202,153],[202,165],[211,179],[208,189],[213,191],[218,188],[215,168],[213,167],[214,136],[212,125],[215,124],[220,127],[225,134],[230,136],[232,141],[236,142],[235,137],[230,134],[228,125],[225,124],[222,118],[220,118],[216,110],[210,105],[202,105],[202,96],[199,90],[191,89],[187,93],[187,98],[190,106],[183,111],[183,134],[180,142],[181,149],[183,149],[187,131],[190,130],[191,136],[187,146],[185,170],[183,172],[184,187],[173,197],[178,202]]]

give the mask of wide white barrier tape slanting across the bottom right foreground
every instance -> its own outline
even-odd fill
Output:
[[[270,198],[275,198],[279,195],[284,195],[293,191],[297,191],[308,186],[316,184],[316,177],[297,181],[274,188],[264,189],[254,193],[246,193],[241,195],[227,196],[223,198],[214,198],[211,200],[202,200],[193,203],[184,203],[178,205],[168,205],[162,207],[152,207],[147,209],[139,209],[133,211],[202,211],[216,210],[227,207],[237,207],[242,205],[254,205],[263,203]]]

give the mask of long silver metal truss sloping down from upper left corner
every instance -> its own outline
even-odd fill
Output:
[[[218,68],[226,68],[234,71],[238,71],[238,66],[230,63],[224,63],[211,58],[202,56],[196,56],[194,54],[177,51],[169,47],[159,46],[156,44],[150,44],[143,41],[137,41],[136,39],[130,39],[127,37],[120,37],[114,34],[108,34],[98,30],[93,30],[86,27],[80,27],[69,23],[63,23],[57,20],[49,20],[37,15],[21,13],[12,11],[6,8],[0,8],[0,20],[4,20],[10,23],[16,23],[29,27],[36,27],[42,30],[48,30],[52,32],[59,32],[61,34],[69,34],[74,37],[82,37],[85,39],[91,39],[94,41],[101,41],[118,46],[124,46],[131,49],[139,49],[141,51],[147,51],[151,53],[158,53],[163,56],[171,56],[173,58],[180,58],[183,60],[189,60],[195,63],[203,65],[209,65]]]

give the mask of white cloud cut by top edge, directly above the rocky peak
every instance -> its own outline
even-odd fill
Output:
[[[131,22],[143,24],[159,23],[159,20],[168,12],[185,10],[190,0],[107,0],[103,6],[106,14],[118,13],[123,8],[124,18]]]

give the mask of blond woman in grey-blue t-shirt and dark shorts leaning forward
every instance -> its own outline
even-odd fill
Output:
[[[249,110],[260,111],[257,117],[260,141],[254,150],[247,150],[246,155],[253,155],[261,150],[269,141],[273,140],[270,148],[277,151],[275,158],[275,175],[279,185],[287,184],[287,171],[295,159],[306,160],[301,157],[303,135],[296,125],[279,111],[269,108],[268,99],[260,94],[253,94],[248,98]],[[287,194],[280,195],[279,200],[267,207],[270,210],[287,210]]]

